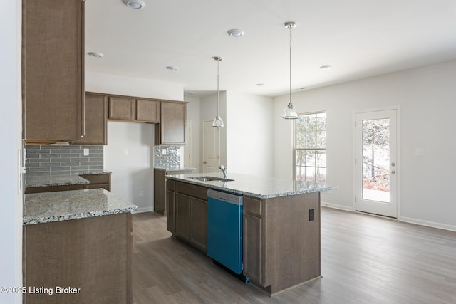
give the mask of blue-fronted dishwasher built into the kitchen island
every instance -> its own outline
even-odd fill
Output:
[[[207,190],[207,256],[242,273],[242,195]]]

